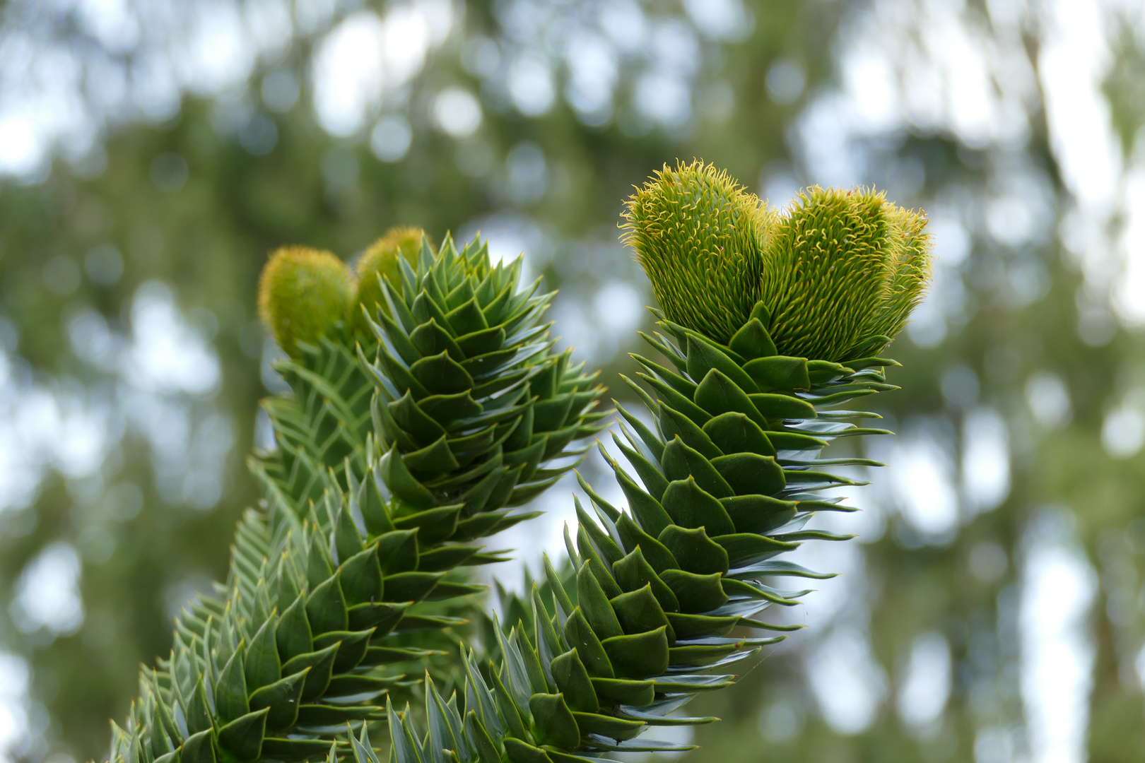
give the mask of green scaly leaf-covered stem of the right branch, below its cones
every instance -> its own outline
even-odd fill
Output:
[[[673,367],[637,357],[652,394],[633,387],[654,424],[621,408],[616,439],[635,475],[605,452],[627,510],[582,480],[592,515],[577,502],[576,534],[566,534],[575,587],[561,586],[546,559],[552,598],[535,588],[531,635],[519,623],[500,637],[488,682],[471,665],[464,698],[442,704],[427,681],[445,709],[423,725],[393,714],[392,760],[559,763],[678,749],[641,733],[713,721],[676,710],[729,685],[735,663],[784,637],[767,631],[796,628],[757,619],[808,593],[774,579],[831,575],[781,557],[804,540],[843,540],[804,528],[815,511],[850,510],[818,491],[861,484],[836,467],[875,466],[821,451],[838,437],[884,432],[848,421],[874,414],[835,406],[892,389],[879,368],[894,361],[777,356],[767,323],[760,304],[728,345],[666,320],[666,336],[646,336]],[[450,737],[457,728],[464,733]]]

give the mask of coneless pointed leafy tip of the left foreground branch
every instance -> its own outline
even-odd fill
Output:
[[[579,462],[589,446],[574,440],[607,426],[599,373],[553,352],[552,294],[519,286],[520,259],[493,265],[479,240],[457,252],[447,238],[436,256],[423,245],[417,268],[398,262],[371,320],[376,361],[363,357],[385,483],[400,512],[456,506],[459,535],[495,532]]]

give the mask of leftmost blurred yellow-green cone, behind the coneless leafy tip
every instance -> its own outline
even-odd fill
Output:
[[[346,263],[330,252],[286,246],[270,255],[259,278],[259,317],[283,350],[300,357],[346,318],[352,295]]]

